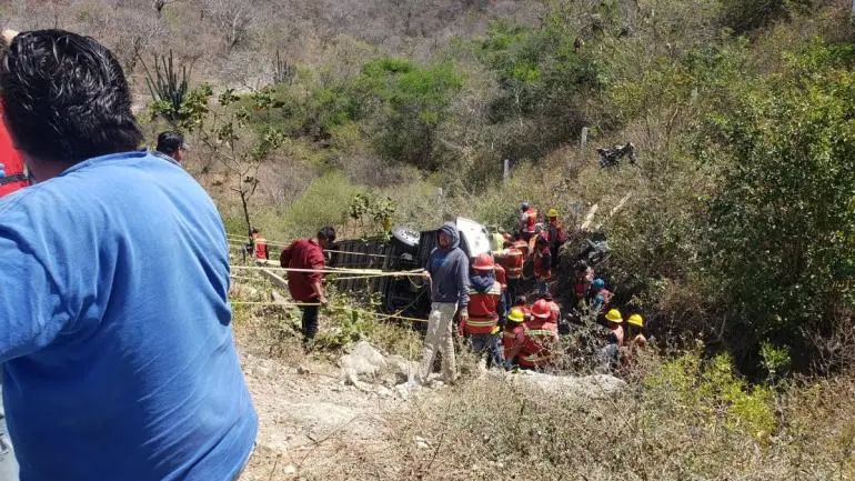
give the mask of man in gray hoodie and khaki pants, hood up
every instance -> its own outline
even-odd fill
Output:
[[[454,382],[454,338],[452,324],[454,314],[460,311],[460,320],[469,318],[469,257],[460,249],[457,227],[446,222],[440,228],[437,248],[431,252],[425,265],[425,277],[431,282],[431,317],[428,321],[428,335],[424,339],[424,353],[419,369],[419,382],[425,383],[433,367],[436,350],[442,352],[442,380]]]

